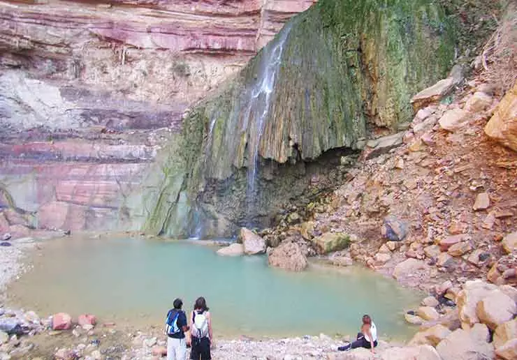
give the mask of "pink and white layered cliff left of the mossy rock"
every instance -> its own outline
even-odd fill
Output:
[[[138,229],[184,110],[311,5],[0,1],[0,232]]]

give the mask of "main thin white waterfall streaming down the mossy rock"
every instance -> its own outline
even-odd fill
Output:
[[[251,225],[252,216],[255,209],[256,199],[256,183],[258,177],[259,152],[261,146],[261,137],[263,134],[265,121],[268,118],[271,100],[275,92],[275,80],[279,73],[280,64],[282,63],[282,52],[291,24],[282,29],[277,38],[275,45],[268,47],[266,53],[262,57],[256,81],[251,89],[247,91],[247,103],[244,119],[242,120],[242,129],[249,126],[248,134],[248,170],[247,170],[247,221]],[[252,123],[250,124],[250,121]]]

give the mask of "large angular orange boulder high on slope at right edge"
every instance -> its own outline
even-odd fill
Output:
[[[502,98],[485,133],[503,145],[517,151],[517,82]]]

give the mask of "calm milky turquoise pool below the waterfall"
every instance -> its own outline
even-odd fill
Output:
[[[69,237],[45,243],[32,260],[8,291],[18,306],[161,327],[175,297],[191,310],[204,296],[219,336],[354,334],[369,313],[379,333],[405,339],[414,329],[402,315],[421,299],[365,269],[290,273],[265,256],[221,257],[188,241]]]

